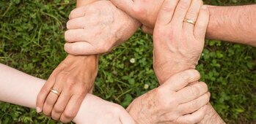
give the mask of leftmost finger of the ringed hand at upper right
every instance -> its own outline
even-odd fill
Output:
[[[156,24],[160,26],[166,26],[172,20],[172,15],[175,12],[175,7],[178,4],[178,0],[165,0],[158,13]]]

